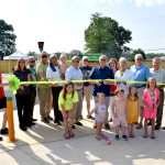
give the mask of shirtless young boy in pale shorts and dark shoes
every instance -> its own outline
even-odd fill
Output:
[[[116,90],[117,99],[112,102],[112,113],[113,113],[113,123],[116,125],[116,140],[119,141],[119,127],[122,127],[122,139],[128,141],[128,136],[125,135],[125,125],[127,125],[127,114],[128,114],[128,106],[124,99],[124,90],[117,89]],[[114,111],[116,109],[116,111]]]

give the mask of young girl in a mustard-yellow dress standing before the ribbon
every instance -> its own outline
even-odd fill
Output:
[[[131,85],[129,87],[129,95],[127,97],[128,103],[128,130],[129,130],[129,138],[134,138],[134,123],[139,120],[139,110],[140,110],[140,100],[138,96],[138,89],[135,85]]]

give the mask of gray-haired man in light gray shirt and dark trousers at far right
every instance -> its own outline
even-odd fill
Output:
[[[158,57],[153,58],[153,68],[150,69],[152,77],[156,82],[165,84],[165,70],[160,67],[161,61]],[[157,107],[155,130],[160,130],[162,125],[163,106],[164,106],[164,85],[157,85],[160,89],[160,106]]]

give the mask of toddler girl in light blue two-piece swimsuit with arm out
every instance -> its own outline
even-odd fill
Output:
[[[95,112],[95,120],[97,124],[97,130],[96,130],[96,139],[101,140],[101,136],[105,136],[105,134],[101,132],[102,124],[105,123],[105,119],[107,116],[106,112],[106,105],[105,105],[105,94],[99,92],[97,96],[98,103],[96,103],[95,108],[88,113],[88,117],[90,117]]]

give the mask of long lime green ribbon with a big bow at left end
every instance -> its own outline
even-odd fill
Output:
[[[7,77],[8,81],[13,81],[14,84],[12,86],[9,87],[10,90],[13,90],[13,95],[16,94],[16,90],[19,89],[19,86],[21,85],[34,85],[34,84],[38,84],[38,85],[43,85],[43,84],[62,84],[62,82],[66,82],[67,80],[55,80],[55,81],[20,81],[20,79],[18,77],[15,77],[15,75],[12,75],[11,77]],[[120,80],[120,79],[87,79],[87,80],[72,80],[73,82],[87,82],[87,81],[103,81],[103,80],[109,80],[109,81],[124,81],[124,82],[131,82],[131,84],[146,84],[146,81],[135,81],[135,80]],[[165,85],[162,82],[156,82],[157,85]]]

